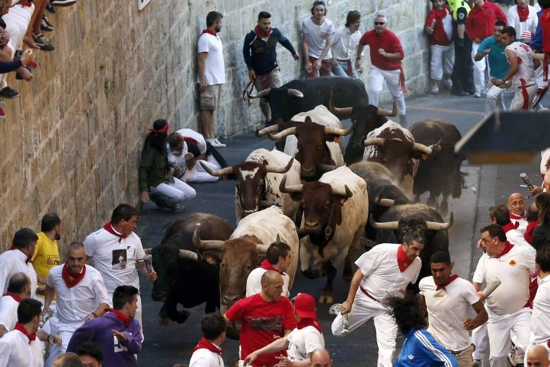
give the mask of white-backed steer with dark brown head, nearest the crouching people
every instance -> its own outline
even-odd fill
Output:
[[[248,155],[245,162],[235,166],[212,170],[201,162],[203,168],[212,176],[228,175],[236,181],[235,217],[237,223],[243,217],[258,210],[279,205],[283,213],[296,220],[298,205],[288,194],[279,191],[279,182],[283,173],[287,173],[292,182],[300,183],[300,162],[285,153],[266,149],[256,149]]]

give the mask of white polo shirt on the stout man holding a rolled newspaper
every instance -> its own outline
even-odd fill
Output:
[[[503,256],[482,256],[472,281],[483,284],[500,279],[500,287],[487,298],[487,308],[497,315],[509,315],[522,309],[529,300],[529,273],[534,271],[535,252],[513,246]]]

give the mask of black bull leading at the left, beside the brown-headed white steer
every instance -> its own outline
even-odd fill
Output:
[[[151,251],[157,271],[151,298],[164,302],[159,311],[160,324],[187,320],[189,312],[177,311],[177,304],[190,309],[206,302],[206,313],[219,309],[219,256],[201,254],[192,245],[197,223],[203,225],[209,240],[226,240],[233,232],[228,221],[206,213],[182,216],[166,230],[162,243]]]

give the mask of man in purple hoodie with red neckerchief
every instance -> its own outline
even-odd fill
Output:
[[[142,351],[143,341],[140,323],[134,318],[139,293],[130,285],[116,287],[113,309],[76,329],[67,352],[76,352],[85,342],[94,342],[104,353],[105,366],[137,367],[134,355]]]

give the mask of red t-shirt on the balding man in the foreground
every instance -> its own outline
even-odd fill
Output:
[[[296,327],[296,319],[290,301],[281,297],[277,302],[266,302],[260,293],[236,302],[225,316],[235,322],[241,320],[241,359],[274,341],[274,336],[283,337],[285,330]],[[286,356],[286,351],[264,354],[252,364],[254,367],[273,366],[276,356]]]

